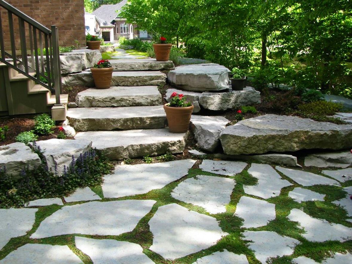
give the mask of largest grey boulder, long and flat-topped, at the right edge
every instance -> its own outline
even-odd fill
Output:
[[[261,154],[301,149],[341,150],[352,147],[352,125],[266,114],[227,126],[220,133],[224,153]]]

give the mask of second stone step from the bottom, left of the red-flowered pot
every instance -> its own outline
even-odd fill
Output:
[[[76,131],[164,128],[166,114],[160,106],[69,108],[67,119]]]

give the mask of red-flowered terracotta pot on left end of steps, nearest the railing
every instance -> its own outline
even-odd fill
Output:
[[[99,89],[106,89],[111,86],[112,72],[114,68],[107,59],[102,59],[93,68],[92,71],[95,87]]]

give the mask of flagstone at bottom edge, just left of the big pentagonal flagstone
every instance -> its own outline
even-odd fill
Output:
[[[153,264],[154,262],[143,254],[140,245],[114,239],[92,239],[75,237],[76,247],[87,254],[94,264]]]

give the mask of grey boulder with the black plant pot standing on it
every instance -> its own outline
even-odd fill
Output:
[[[258,103],[260,103],[260,92],[252,87],[246,87],[243,91],[227,93],[202,93],[199,96],[200,106],[214,111],[240,108],[241,106]]]

